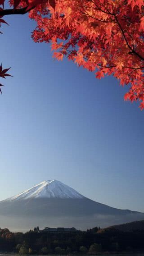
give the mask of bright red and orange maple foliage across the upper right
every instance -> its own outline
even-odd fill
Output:
[[[0,0],[1,5],[3,2]],[[144,0],[10,3],[14,9],[31,10],[29,17],[37,23],[32,38],[35,42],[50,42],[54,58],[63,60],[66,56],[95,72],[98,79],[113,75],[122,86],[128,86],[125,100],[139,100],[144,109]]]

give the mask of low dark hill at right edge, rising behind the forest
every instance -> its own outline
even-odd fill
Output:
[[[114,225],[109,228],[110,229],[118,229],[118,230],[122,230],[122,231],[144,230],[144,220],[127,222],[127,223],[120,224],[120,225]]]

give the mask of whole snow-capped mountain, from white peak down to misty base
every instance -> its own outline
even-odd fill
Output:
[[[57,180],[44,181],[0,201],[0,227],[27,230],[39,225],[90,229],[144,219],[144,213],[116,209],[90,200]]]

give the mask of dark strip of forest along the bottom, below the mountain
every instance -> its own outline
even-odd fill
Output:
[[[43,233],[34,228],[26,233],[0,229],[0,253],[96,254],[101,252],[143,252],[144,230],[88,229],[77,232]]]

